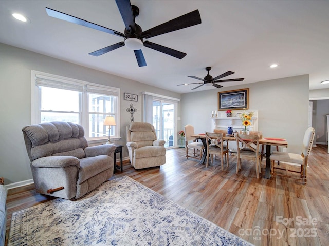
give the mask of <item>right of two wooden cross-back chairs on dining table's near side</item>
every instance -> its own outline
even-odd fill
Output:
[[[259,139],[258,134],[235,134],[236,149],[237,149],[237,160],[236,160],[236,174],[241,169],[242,159],[254,160],[256,167],[256,177],[259,178],[261,169],[261,157],[262,154],[259,151]]]

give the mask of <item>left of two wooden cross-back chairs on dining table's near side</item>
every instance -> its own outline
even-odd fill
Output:
[[[224,170],[223,165],[223,155],[225,158],[225,162],[227,163],[227,167],[229,166],[228,163],[228,148],[227,146],[224,146],[223,144],[223,133],[213,133],[213,132],[206,132],[206,143],[207,143],[207,162],[206,162],[206,168],[208,167],[209,163],[209,156],[211,156],[211,163],[213,163],[213,157],[215,155],[221,156],[221,167],[222,170]]]

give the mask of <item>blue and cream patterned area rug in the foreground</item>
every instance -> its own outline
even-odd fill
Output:
[[[251,245],[124,176],[12,215],[8,245]]]

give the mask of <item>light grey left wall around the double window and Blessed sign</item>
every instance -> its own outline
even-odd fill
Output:
[[[125,109],[133,103],[138,110],[134,119],[142,121],[142,91],[180,98],[178,93],[0,43],[0,176],[5,177],[6,185],[32,178],[22,133],[22,128],[31,124],[31,70],[121,88],[122,138],[117,142],[124,146],[125,126],[130,123],[130,113]],[[138,101],[123,100],[124,92],[137,94]],[[126,156],[124,147],[123,157]]]

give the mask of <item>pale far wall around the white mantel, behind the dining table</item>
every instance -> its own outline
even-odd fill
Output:
[[[264,137],[288,141],[288,151],[301,153],[308,125],[309,75],[261,81],[181,95],[181,129],[192,124],[195,133],[211,130],[212,110],[217,110],[218,91],[249,88],[249,110],[258,110],[258,130]]]

